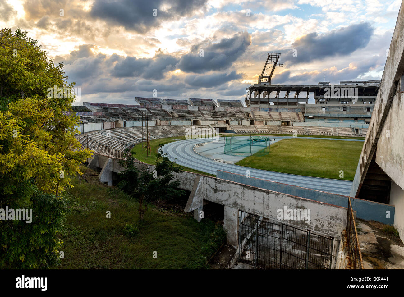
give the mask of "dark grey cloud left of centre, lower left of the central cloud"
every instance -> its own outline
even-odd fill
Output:
[[[153,59],[126,57],[118,62],[112,73],[115,77],[141,76],[146,79],[160,80],[167,71],[175,70],[178,59],[166,54],[158,54]]]

